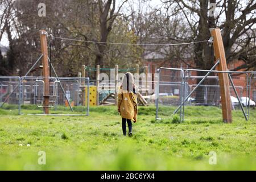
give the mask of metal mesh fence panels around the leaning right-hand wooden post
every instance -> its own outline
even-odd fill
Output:
[[[236,113],[249,117],[255,107],[256,80],[254,72],[218,72],[196,69],[160,68],[156,119],[167,119],[179,114],[180,121],[189,119],[221,120],[221,87],[219,74],[228,74],[230,100]],[[207,107],[208,106],[208,107]],[[200,118],[204,110],[213,110],[209,118]],[[238,115],[239,115],[238,114]],[[236,117],[237,114],[234,114]],[[247,119],[247,118],[246,118]]]

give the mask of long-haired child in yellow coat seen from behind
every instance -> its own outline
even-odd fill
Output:
[[[122,85],[118,93],[118,112],[122,117],[123,135],[126,135],[126,121],[129,128],[129,137],[133,136],[131,133],[131,120],[135,123],[137,121],[137,96],[135,94],[135,84],[133,75],[125,73],[122,80]]]

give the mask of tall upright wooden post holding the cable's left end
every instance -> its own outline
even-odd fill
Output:
[[[48,50],[47,50],[47,32],[40,31],[41,50],[43,54],[43,77],[44,77],[44,114],[49,114],[49,65],[48,65]]]

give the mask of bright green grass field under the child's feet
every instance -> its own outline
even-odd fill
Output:
[[[171,110],[161,107],[159,115],[167,118]],[[12,106],[0,109],[1,170],[256,169],[256,110],[249,122],[233,111],[233,123],[225,124],[216,107],[187,107],[185,122],[175,123],[177,118],[155,121],[154,106],[139,107],[132,138],[122,136],[114,106],[91,107],[89,117],[16,113]],[[38,164],[39,151],[46,152],[46,165]],[[210,151],[216,165],[209,164]]]

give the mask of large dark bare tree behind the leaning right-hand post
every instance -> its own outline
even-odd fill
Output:
[[[245,64],[240,68],[250,69],[255,66],[255,0],[171,0],[164,3],[174,14],[179,14],[187,22],[192,31],[191,40],[206,40],[210,37],[209,28],[219,27],[222,30],[228,63],[242,59]],[[214,15],[210,14],[212,5],[216,6]],[[212,67],[213,56],[212,48],[206,44],[196,44],[197,68]]]

